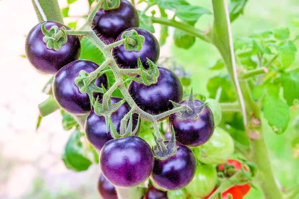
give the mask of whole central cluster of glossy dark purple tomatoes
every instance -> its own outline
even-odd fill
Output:
[[[42,22],[43,23],[43,22]],[[81,70],[87,73],[96,70],[99,65],[89,60],[78,60],[80,57],[80,40],[77,36],[68,36],[68,40],[56,51],[48,49],[43,41],[42,23],[37,24],[27,36],[26,55],[31,64],[40,72],[56,74],[53,81],[53,95],[62,109],[74,115],[89,114],[85,123],[85,134],[91,145],[100,151],[100,167],[103,176],[114,186],[130,188],[144,183],[148,178],[166,190],[177,190],[187,186],[196,172],[196,158],[189,147],[197,147],[207,142],[213,134],[214,121],[210,108],[205,107],[196,118],[183,119],[176,114],[169,116],[170,129],[173,126],[176,135],[175,154],[166,158],[155,158],[151,146],[137,135],[113,139],[107,132],[106,121],[91,109],[89,96],[81,93],[74,80]],[[47,21],[45,28],[52,26],[65,27],[55,21]],[[115,61],[120,68],[137,68],[138,56],[146,67],[147,58],[154,63],[158,61],[160,47],[157,39],[149,31],[138,28],[139,18],[135,7],[126,0],[114,10],[99,9],[93,20],[93,28],[104,43],[121,39],[126,30],[136,30],[144,36],[145,42],[140,51],[127,51],[124,45],[112,49]],[[174,101],[181,105],[183,87],[177,75],[171,70],[158,67],[157,83],[149,86],[132,81],[128,92],[136,104],[144,111],[157,115],[173,108]],[[108,89],[106,74],[96,79],[95,84],[103,84]],[[102,93],[94,97],[101,98]],[[112,103],[121,98],[112,97]],[[99,101],[101,103],[101,101]],[[200,107],[201,101],[194,101]],[[130,111],[125,102],[111,115],[116,131],[120,131],[120,120]],[[166,118],[164,118],[166,119]],[[133,127],[137,126],[138,115],[133,115]],[[137,133],[138,134],[138,133]],[[168,141],[165,141],[167,144]],[[102,179],[102,181],[104,181]]]

